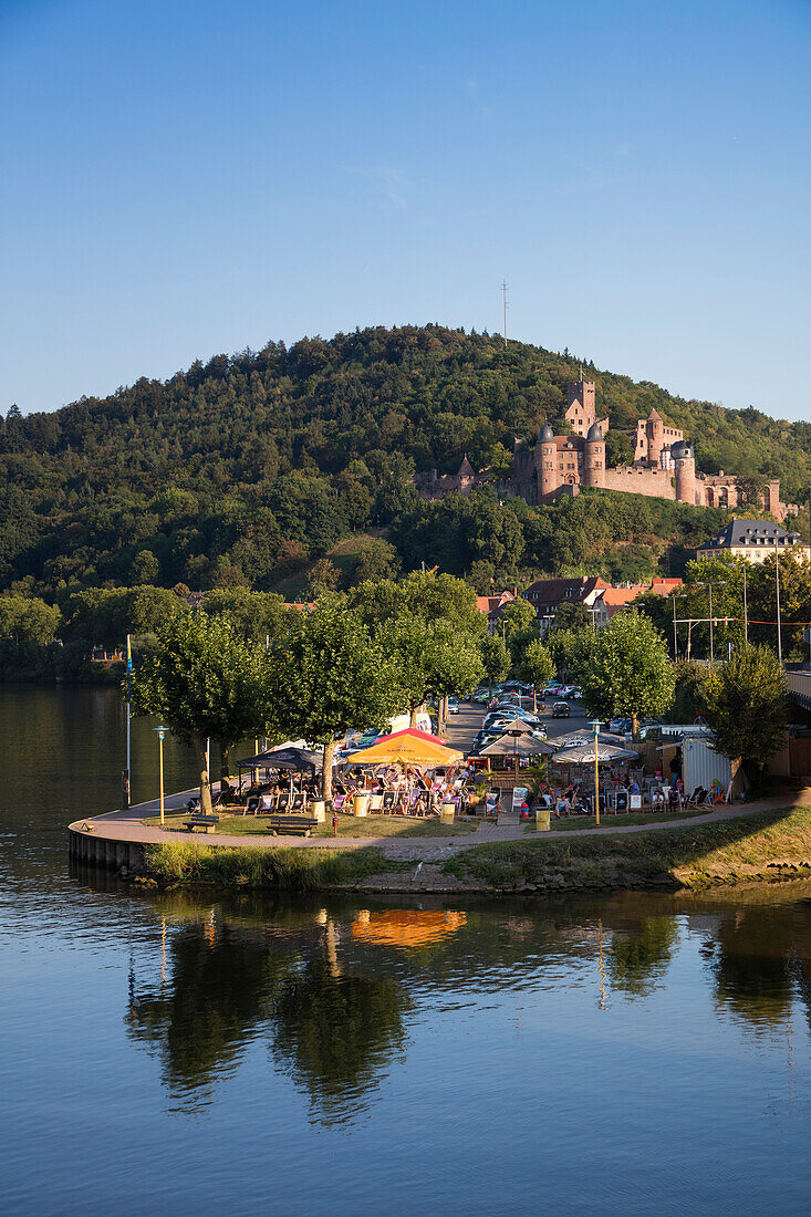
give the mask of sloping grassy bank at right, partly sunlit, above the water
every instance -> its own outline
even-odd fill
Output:
[[[496,888],[690,888],[811,873],[811,807],[756,812],[666,832],[474,846],[444,864],[459,879]]]

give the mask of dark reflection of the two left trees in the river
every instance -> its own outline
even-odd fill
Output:
[[[406,998],[392,977],[341,976],[331,922],[281,950],[262,932],[191,924],[169,938],[166,992],[132,996],[129,1033],[163,1062],[173,1099],[209,1101],[255,1028],[274,1025],[274,1055],[332,1118],[376,1084],[403,1041]],[[302,965],[302,948],[304,963]],[[311,958],[312,957],[312,958]]]

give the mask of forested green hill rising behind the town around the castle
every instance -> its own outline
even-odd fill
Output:
[[[390,528],[398,551],[379,553],[384,563],[435,557],[475,582],[555,567],[631,577],[628,562],[650,566],[651,545],[661,559],[658,538],[689,544],[718,514],[608,494],[538,511],[487,492],[423,505],[409,481],[455,470],[465,452],[508,472],[514,436],[560,425],[580,366],[486,333],[379,327],[216,355],[52,414],[12,408],[0,426],[0,587],[51,598],[75,584],[272,588],[375,528]],[[656,406],[694,439],[699,469],[778,476],[784,499],[806,501],[810,424],[582,368],[614,427]],[[627,542],[648,549],[644,561],[622,566]]]

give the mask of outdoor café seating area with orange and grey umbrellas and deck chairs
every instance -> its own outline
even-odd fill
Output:
[[[682,757],[689,744],[683,738],[625,747],[616,735],[592,741],[581,730],[548,741],[509,716],[500,730],[494,739],[491,733],[488,742],[479,736],[470,752],[416,728],[377,736],[365,747],[339,744],[328,801],[321,795],[323,751],[290,740],[241,759],[236,779],[224,783],[212,803],[223,815],[267,821],[275,834],[308,832],[328,815],[444,823],[457,817],[498,819],[507,811],[520,819],[539,815],[538,821],[543,813],[548,819],[594,817],[595,768],[600,817],[711,808],[728,797],[717,775],[686,791]],[[695,773],[701,776],[704,769]],[[188,809],[189,831],[205,829],[198,800]],[[212,819],[216,824],[217,817]]]

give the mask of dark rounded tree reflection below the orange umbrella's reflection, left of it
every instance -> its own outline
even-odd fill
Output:
[[[346,1117],[402,1048],[407,1008],[392,976],[341,976],[329,960],[309,960],[276,991],[274,1055],[290,1065],[325,1120]]]

